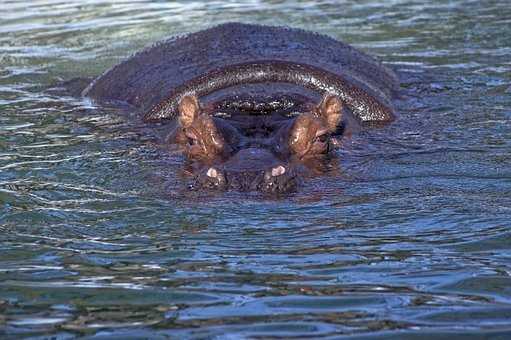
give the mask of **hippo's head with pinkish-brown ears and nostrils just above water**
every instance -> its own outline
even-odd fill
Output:
[[[170,141],[182,147],[196,182],[193,187],[286,193],[294,191],[307,164],[319,163],[338,145],[334,136],[342,102],[325,95],[291,116],[208,113],[196,96],[179,101]]]

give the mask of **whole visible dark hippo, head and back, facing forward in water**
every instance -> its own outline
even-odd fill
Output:
[[[94,79],[82,95],[168,124],[192,188],[297,190],[335,158],[347,125],[389,123],[396,74],[331,37],[227,23],[173,37]]]

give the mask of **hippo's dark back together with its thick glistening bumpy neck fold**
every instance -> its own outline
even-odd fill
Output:
[[[247,81],[250,80],[250,81]],[[332,92],[361,121],[389,121],[396,75],[372,57],[330,37],[300,29],[230,23],[172,38],[128,58],[93,81],[83,95],[127,102],[146,120],[173,118],[184,94],[275,83]]]

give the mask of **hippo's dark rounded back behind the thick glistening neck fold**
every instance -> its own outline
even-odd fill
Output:
[[[396,75],[379,61],[325,35],[286,27],[228,23],[157,43],[95,79],[83,95],[148,110],[212,70],[260,60],[303,63],[362,84],[389,102]]]

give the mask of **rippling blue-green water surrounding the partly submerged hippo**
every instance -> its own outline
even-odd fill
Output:
[[[0,328],[509,336],[510,18],[507,1],[4,0]],[[225,21],[377,55],[406,75],[399,120],[354,136],[337,170],[288,198],[197,195],[152,128],[45,91]]]

